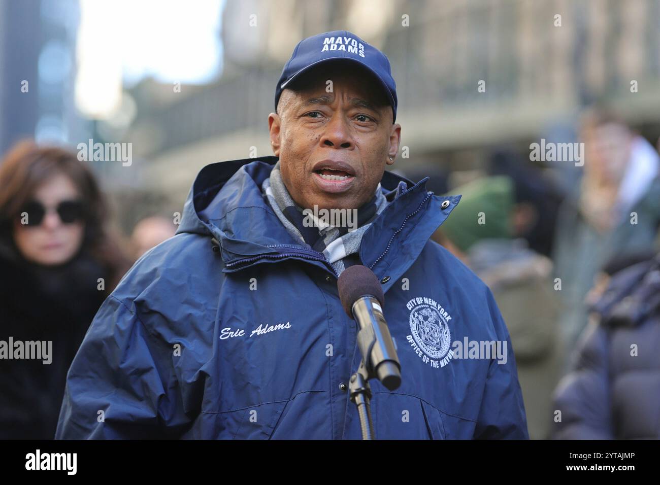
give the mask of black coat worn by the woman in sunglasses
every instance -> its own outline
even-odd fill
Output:
[[[106,296],[97,279],[107,275],[84,252],[41,267],[1,249],[0,340],[51,340],[52,362],[0,358],[0,439],[51,439],[69,366]]]

